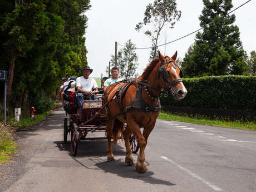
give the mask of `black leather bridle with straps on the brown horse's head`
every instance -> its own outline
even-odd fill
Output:
[[[174,61],[172,61],[172,60],[170,59],[170,57],[168,57],[168,58],[169,58],[169,61],[167,61],[167,62],[165,62],[165,63],[161,62],[160,65],[159,65],[159,77],[162,78],[162,80],[164,81],[164,83],[165,83],[165,85],[167,86],[167,88],[165,88],[165,89],[162,88],[161,90],[159,90],[158,88],[155,88],[155,87],[152,87],[152,86],[148,85],[147,82],[137,81],[137,83],[140,83],[140,84],[144,85],[144,88],[145,88],[145,90],[146,90],[147,95],[148,95],[151,99],[153,99],[153,100],[157,100],[157,99],[158,99],[158,96],[154,96],[154,95],[149,91],[149,88],[152,88],[152,89],[154,89],[154,90],[156,90],[156,91],[159,91],[160,93],[163,93],[165,97],[168,96],[168,93],[169,93],[169,92],[171,93],[171,95],[175,96],[175,92],[174,92],[173,88],[171,88],[171,86],[175,85],[175,84],[178,83],[178,82],[182,82],[182,79],[181,79],[181,78],[183,77],[183,72],[181,71],[180,68],[179,68],[179,70],[180,70],[180,78],[175,78],[175,80],[173,80],[173,81],[170,82],[170,83],[167,81],[167,78],[169,77],[169,71],[166,70],[166,69],[167,69],[169,63],[173,63],[173,68],[176,70],[176,66],[175,66],[175,64],[174,64]],[[164,68],[163,66],[166,66],[166,67]]]

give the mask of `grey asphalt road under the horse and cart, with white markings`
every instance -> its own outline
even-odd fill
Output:
[[[145,150],[147,173],[137,174],[124,163],[122,141],[114,163],[106,162],[106,140],[81,141],[73,157],[62,141],[64,117],[58,107],[18,132],[19,152],[0,165],[0,191],[256,191],[256,131],[157,120]]]

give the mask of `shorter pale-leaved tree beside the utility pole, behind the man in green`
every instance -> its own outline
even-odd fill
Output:
[[[117,52],[117,65],[116,67],[119,68],[119,76],[120,78],[126,80],[132,77],[136,77],[136,68],[139,65],[137,63],[138,57],[135,52],[136,46],[131,40],[128,40],[125,43],[125,47],[121,48],[119,52]],[[111,55],[111,66],[115,66],[115,56]],[[107,68],[108,72],[108,68]]]

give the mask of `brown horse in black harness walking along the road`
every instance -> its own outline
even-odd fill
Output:
[[[177,52],[171,58],[164,57],[159,52],[159,57],[154,58],[136,80],[117,82],[107,87],[104,102],[112,100],[107,106],[107,161],[115,161],[111,138],[116,144],[121,133],[126,147],[125,163],[134,164],[129,145],[132,133],[140,147],[136,170],[140,174],[146,172],[144,150],[161,110],[160,92],[170,89],[176,100],[183,99],[187,93],[180,78],[182,72],[175,62],[176,56]],[[125,130],[124,123],[127,124]],[[141,127],[144,128],[143,133],[140,131]]]

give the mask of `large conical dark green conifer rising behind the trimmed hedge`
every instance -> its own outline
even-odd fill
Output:
[[[195,43],[186,53],[183,70],[187,77],[205,75],[245,75],[246,53],[240,41],[235,15],[227,15],[232,0],[203,0],[200,15],[203,32],[196,34]],[[224,17],[225,16],[225,17]]]

